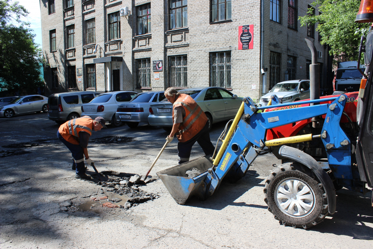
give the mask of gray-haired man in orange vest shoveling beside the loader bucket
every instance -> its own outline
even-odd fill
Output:
[[[189,161],[192,146],[197,142],[205,155],[212,155],[215,147],[210,141],[209,119],[194,99],[185,93],[179,93],[169,87],[164,96],[173,104],[173,125],[170,135],[166,138],[169,143],[173,136],[178,138],[179,164]]]

